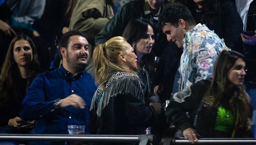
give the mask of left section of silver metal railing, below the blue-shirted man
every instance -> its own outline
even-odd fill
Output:
[[[131,142],[146,145],[153,135],[70,135],[70,134],[0,134],[0,141],[33,142]]]

